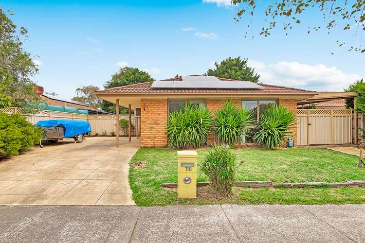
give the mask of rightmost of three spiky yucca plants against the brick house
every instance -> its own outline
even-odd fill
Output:
[[[296,124],[296,116],[292,110],[285,106],[271,105],[260,115],[256,126],[254,139],[258,145],[266,145],[267,148],[278,148],[285,143],[285,138],[292,136],[289,130]]]

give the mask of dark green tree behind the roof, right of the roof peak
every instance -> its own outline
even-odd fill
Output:
[[[247,59],[228,57],[220,63],[215,62],[215,69],[207,71],[208,76],[216,76],[219,78],[237,79],[242,81],[251,81],[257,83],[260,75],[255,73],[255,69],[247,66]]]

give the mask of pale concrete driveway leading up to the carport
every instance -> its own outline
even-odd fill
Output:
[[[73,139],[0,161],[0,205],[134,205],[128,162],[139,139]]]

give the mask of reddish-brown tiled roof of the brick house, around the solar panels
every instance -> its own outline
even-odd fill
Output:
[[[176,78],[178,79],[178,78]],[[220,80],[227,80],[219,78]],[[171,79],[169,80],[171,81]],[[179,80],[176,80],[179,81]],[[97,93],[296,93],[303,94],[315,93],[314,91],[298,89],[298,88],[290,88],[290,87],[282,87],[282,86],[274,86],[274,85],[266,85],[259,84],[262,86],[260,89],[192,89],[192,88],[152,88],[152,82],[142,83],[142,84],[134,84],[127,85],[122,87],[108,88],[105,90],[99,90]]]

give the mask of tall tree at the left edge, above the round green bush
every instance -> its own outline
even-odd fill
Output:
[[[0,9],[0,87],[5,94],[0,96],[0,103],[5,99],[6,105],[35,108],[40,98],[32,79],[38,68],[20,40],[26,39],[28,32],[24,27],[17,28],[8,15],[13,13]],[[26,106],[27,103],[34,105]]]

